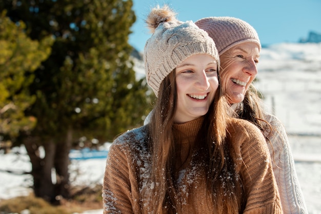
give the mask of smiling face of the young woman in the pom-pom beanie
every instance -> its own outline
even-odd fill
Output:
[[[218,87],[217,63],[208,54],[188,57],[176,68],[177,108],[175,123],[205,115]]]

